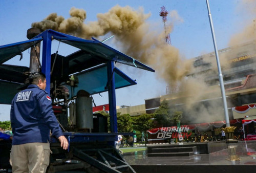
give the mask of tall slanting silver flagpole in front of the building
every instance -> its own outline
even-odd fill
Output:
[[[207,4],[207,9],[208,9],[208,14],[209,14],[212,40],[214,41],[214,50],[215,50],[215,55],[216,55],[216,60],[217,60],[218,71],[219,71],[219,81],[220,81],[220,86],[221,86],[221,95],[222,95],[223,108],[224,108],[224,114],[225,114],[225,119],[226,119],[226,127],[230,127],[228,111],[227,111],[226,93],[225,93],[223,76],[222,76],[220,60],[219,60],[219,54],[218,54],[218,49],[217,49],[217,44],[216,44],[216,39],[215,39],[214,25],[212,24],[212,19],[211,19],[210,7],[209,7],[208,0],[206,0],[206,4]]]

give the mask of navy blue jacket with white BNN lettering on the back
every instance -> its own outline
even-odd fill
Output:
[[[63,133],[53,113],[48,93],[30,84],[12,100],[12,145],[32,142],[50,143],[50,129],[57,138]]]

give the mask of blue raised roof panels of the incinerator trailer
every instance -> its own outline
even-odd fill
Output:
[[[68,61],[68,65],[65,67],[68,69],[68,74],[71,75],[75,73],[75,75],[78,77],[79,83],[74,89],[74,93],[80,89],[86,90],[91,95],[108,91],[106,88],[108,82],[106,63],[109,61],[119,62],[155,72],[145,64],[103,44],[101,41],[96,39],[85,40],[49,29],[30,40],[0,46],[0,72],[4,74],[0,75],[0,91],[4,91],[3,89],[6,88],[7,85],[10,86],[10,90],[6,90],[5,93],[1,92],[1,95],[6,97],[5,99],[3,99],[3,97],[0,98],[0,104],[11,103],[11,98],[13,98],[14,94],[17,92],[15,88],[24,83],[25,79],[27,78],[27,75],[24,72],[29,71],[28,67],[11,66],[3,63],[32,47],[37,42],[45,39],[45,33],[51,34],[52,39],[65,42],[68,45],[80,49],[80,51],[74,52],[68,56],[58,55],[58,58],[63,58],[65,61]],[[53,57],[55,57],[54,54],[50,58]],[[114,68],[113,74],[115,78],[115,89],[137,84],[134,80],[122,73],[116,67]],[[55,76],[51,76],[51,78],[52,77],[54,78]]]

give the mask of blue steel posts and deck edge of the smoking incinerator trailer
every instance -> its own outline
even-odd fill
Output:
[[[61,33],[62,34],[62,33]],[[63,34],[66,35],[66,34]],[[46,85],[46,91],[50,93],[50,74],[51,74],[51,47],[52,47],[52,38],[53,36],[56,36],[54,32],[51,32],[51,30],[46,30],[42,32],[41,34],[37,35],[36,37],[42,37],[42,73],[45,73],[47,85]],[[57,35],[58,36],[58,35]],[[69,35],[67,35],[69,36]],[[34,37],[34,38],[36,38]],[[69,36],[70,37],[70,36]],[[73,36],[71,36],[73,37]],[[76,37],[74,37],[76,38]],[[114,146],[114,141],[117,140],[117,135],[120,135],[120,133],[117,133],[117,112],[116,112],[116,92],[115,92],[115,76],[113,75],[114,71],[114,61],[109,60],[107,62],[107,73],[108,73],[108,93],[109,93],[109,105],[110,105],[110,129],[112,134],[88,134],[88,133],[64,133],[64,135],[68,138],[69,142],[72,140],[70,138],[74,138],[80,142],[93,142],[95,138],[99,138],[108,141],[108,143],[112,146]],[[121,133],[123,134],[123,133]],[[134,135],[134,133],[125,133],[126,135]],[[91,137],[90,137],[91,136]],[[89,138],[90,137],[90,138]],[[86,140],[87,139],[87,140]],[[86,141],[85,141],[86,140]],[[52,141],[54,142],[54,140]],[[73,141],[72,141],[73,142]]]

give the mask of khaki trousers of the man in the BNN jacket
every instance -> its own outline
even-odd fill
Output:
[[[46,172],[50,157],[49,143],[12,145],[10,163],[14,173]]]

